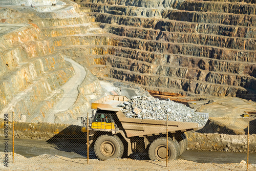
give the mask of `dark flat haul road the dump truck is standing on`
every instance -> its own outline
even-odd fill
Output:
[[[0,137],[1,141],[4,141],[4,137]],[[39,156],[42,154],[58,155],[67,158],[87,158],[86,144],[73,145],[68,149],[56,149],[52,144],[47,143],[45,140],[34,140],[18,138],[14,139],[15,153],[22,155],[26,158]],[[4,148],[4,144],[0,144],[0,148]],[[75,152],[76,148],[76,152]],[[12,144],[9,144],[9,149],[12,149]],[[84,151],[84,152],[83,152]],[[90,159],[97,159],[93,149],[89,151]],[[145,160],[139,157],[140,155],[132,156],[132,159]],[[245,153],[231,153],[231,152],[209,152],[209,151],[185,151],[179,158],[188,161],[194,161],[198,163],[240,163],[241,160],[246,161],[247,154]],[[256,164],[256,154],[249,154],[249,163]]]

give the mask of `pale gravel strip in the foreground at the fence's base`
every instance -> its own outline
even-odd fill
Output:
[[[5,153],[0,152],[3,159]],[[99,161],[96,159],[70,159],[57,155],[40,155],[32,158],[25,158],[15,154],[12,163],[12,155],[8,153],[11,161],[8,167],[5,167],[3,160],[0,164],[0,170],[246,170],[246,162],[231,164],[215,164],[215,163],[196,163],[187,160],[172,160],[168,162],[160,161],[141,161],[132,159],[111,159]],[[255,170],[255,165],[249,165],[249,170]]]

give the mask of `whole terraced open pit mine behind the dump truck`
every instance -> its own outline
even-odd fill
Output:
[[[240,115],[256,113],[255,12],[254,0],[0,1],[0,118],[50,138],[80,125],[92,101],[150,92],[209,113],[201,133],[244,135]],[[216,143],[198,134],[188,140]]]

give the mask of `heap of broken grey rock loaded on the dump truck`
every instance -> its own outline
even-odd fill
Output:
[[[172,100],[159,100],[146,96],[133,96],[131,100],[117,105],[122,108],[126,117],[139,119],[168,120],[181,122],[196,122],[199,126],[204,126],[208,118],[195,113],[193,109],[186,105]]]

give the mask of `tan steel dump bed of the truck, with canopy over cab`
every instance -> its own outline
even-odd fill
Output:
[[[92,109],[100,109],[105,111],[113,111],[117,114],[119,121],[127,135],[127,137],[144,136],[144,135],[159,135],[166,134],[165,120],[150,120],[128,118],[122,113],[117,105],[129,99],[125,96],[108,95],[92,103]],[[180,122],[168,121],[168,132],[175,133],[176,131],[190,131],[198,130],[200,127],[198,123],[194,122]]]

